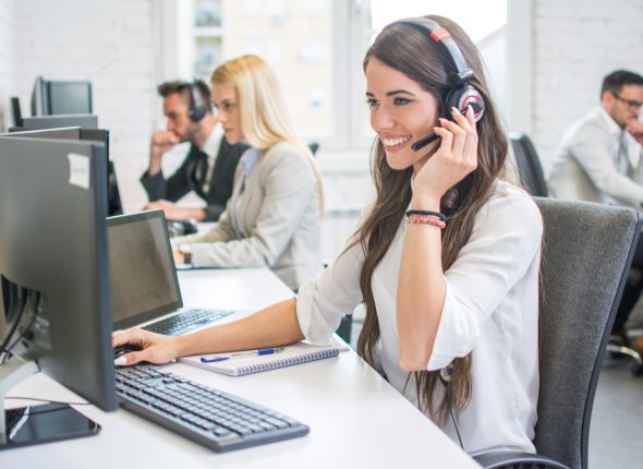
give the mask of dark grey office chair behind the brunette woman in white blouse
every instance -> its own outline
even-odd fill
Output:
[[[587,468],[605,346],[641,232],[638,212],[536,199],[543,214],[537,455],[476,456],[486,468]]]

